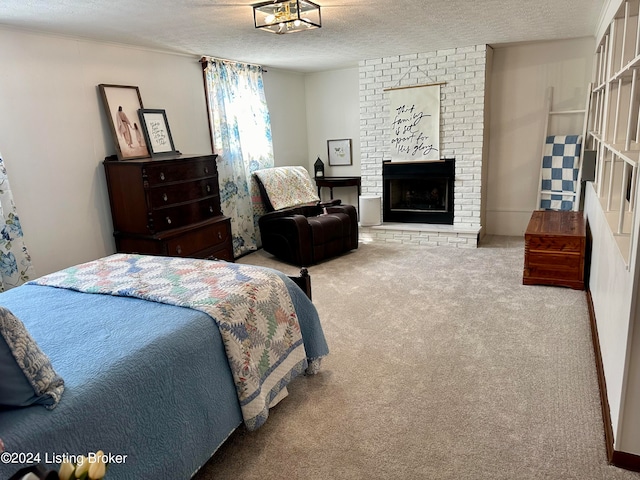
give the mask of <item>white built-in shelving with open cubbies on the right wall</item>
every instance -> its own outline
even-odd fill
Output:
[[[627,264],[640,160],[639,11],[640,0],[623,2],[596,48],[587,135],[594,186]]]

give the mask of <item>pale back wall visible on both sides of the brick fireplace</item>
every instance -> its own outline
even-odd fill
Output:
[[[483,226],[487,233],[524,233],[537,195],[546,87],[555,87],[554,105],[584,108],[594,45],[594,39],[583,38],[497,46],[493,51],[488,72],[488,181],[483,187],[487,195]],[[266,75],[265,87],[270,74]],[[320,156],[327,175],[361,174],[358,78],[357,68],[305,76],[310,171]],[[566,133],[582,128],[581,120],[574,118],[573,123],[558,128],[568,130]],[[329,167],[326,141],[332,138],[352,139],[351,167]],[[357,202],[350,188],[337,189],[336,196]]]

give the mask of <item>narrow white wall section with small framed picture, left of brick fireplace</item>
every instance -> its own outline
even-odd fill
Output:
[[[329,70],[305,76],[307,105],[307,137],[309,171],[313,173],[316,158],[324,162],[325,176],[360,175],[360,104],[358,68]],[[351,165],[330,166],[327,140],[351,139]],[[323,199],[329,198],[323,189]],[[343,203],[358,205],[353,187],[334,189],[334,197]]]

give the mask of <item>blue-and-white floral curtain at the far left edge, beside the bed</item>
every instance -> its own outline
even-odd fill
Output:
[[[22,285],[34,277],[9,177],[0,155],[0,291]]]

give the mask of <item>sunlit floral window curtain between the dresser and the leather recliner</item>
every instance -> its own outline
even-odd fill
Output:
[[[262,67],[208,59],[205,79],[222,212],[231,218],[239,257],[261,246],[258,218],[265,210],[251,174],[273,167]]]

